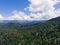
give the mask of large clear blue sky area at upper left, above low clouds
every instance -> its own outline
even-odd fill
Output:
[[[12,11],[24,11],[24,8],[28,5],[28,0],[0,0],[0,13],[2,13],[5,17],[11,16]]]

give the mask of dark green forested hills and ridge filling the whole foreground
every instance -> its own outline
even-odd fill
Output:
[[[26,27],[11,22],[1,25],[0,45],[60,45],[60,17]]]

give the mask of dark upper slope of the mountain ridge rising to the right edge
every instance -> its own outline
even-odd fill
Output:
[[[33,24],[31,27],[29,27],[30,29],[35,29],[35,28],[41,28],[42,30],[45,28],[52,28],[52,26],[54,26],[54,28],[59,27],[60,26],[60,17],[56,17],[53,19],[50,19],[48,21],[42,22],[42,23],[36,23]],[[33,27],[33,28],[32,28]]]

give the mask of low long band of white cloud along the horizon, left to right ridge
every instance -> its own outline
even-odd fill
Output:
[[[44,13],[30,13],[26,15],[21,11],[13,11],[13,15],[8,17],[8,20],[48,20],[54,17],[60,16],[60,10],[49,10]]]

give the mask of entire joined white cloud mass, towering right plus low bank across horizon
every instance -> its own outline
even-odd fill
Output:
[[[22,11],[13,11],[13,15],[4,18],[0,15],[0,20],[49,20],[60,16],[60,9],[56,9],[54,5],[60,2],[60,0],[28,0],[29,6],[24,8],[30,12],[29,15]]]

